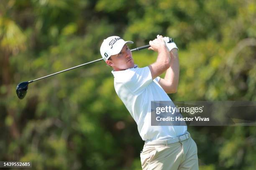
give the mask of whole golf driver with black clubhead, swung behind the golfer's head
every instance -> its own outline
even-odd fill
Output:
[[[171,42],[173,42],[173,40],[172,40],[172,38],[169,38],[169,42],[168,43],[171,43]],[[145,49],[145,48],[148,48],[148,47],[150,47],[150,45],[144,45],[144,46],[141,46],[141,47],[134,48],[131,51],[138,51],[138,50],[142,50],[142,49]],[[75,69],[75,68],[78,68],[78,67],[82,67],[84,65],[87,65],[87,64],[90,64],[90,63],[93,63],[93,62],[97,62],[97,61],[100,61],[100,60],[103,60],[103,58],[100,58],[98,60],[94,60],[94,61],[91,61],[91,62],[87,62],[87,63],[81,64],[81,65],[77,65],[75,67],[72,67],[72,68],[69,68],[69,69],[66,69],[66,70],[55,72],[53,74],[46,75],[44,77],[41,77],[41,78],[38,78],[38,79],[35,79],[35,80],[30,80],[30,81],[27,81],[27,82],[21,82],[16,87],[16,93],[17,93],[19,99],[23,99],[26,96],[26,94],[27,94],[28,84],[29,83],[35,82],[37,80],[41,80],[41,79],[44,79],[46,77],[50,77],[50,76],[53,76],[53,75],[56,75],[56,74],[59,74],[61,72],[66,72],[66,71],[69,71],[69,70],[72,70],[72,69]]]

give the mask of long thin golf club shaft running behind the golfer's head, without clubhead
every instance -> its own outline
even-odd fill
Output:
[[[172,38],[169,39],[169,42],[173,42]],[[134,48],[134,49],[132,49],[131,51],[138,51],[138,50],[142,50],[142,49],[145,49],[145,48],[148,48],[148,47],[150,47],[150,45],[144,45],[144,46],[141,46],[141,47]],[[62,71],[59,71],[59,72],[55,72],[55,73],[53,73],[53,74],[46,75],[46,76],[44,76],[44,77],[41,77],[41,78],[38,78],[38,79],[35,79],[35,80],[30,80],[30,81],[28,81],[28,83],[35,82],[35,81],[37,81],[37,80],[41,80],[41,79],[44,79],[44,78],[46,78],[46,77],[51,77],[51,76],[56,75],[56,74],[59,74],[59,73],[61,73],[61,72],[66,72],[66,71],[69,71],[69,70],[73,70],[73,69],[75,69],[75,68],[82,67],[82,66],[84,66],[84,65],[87,65],[87,64],[90,64],[90,63],[93,63],[93,62],[98,62],[98,61],[100,61],[100,60],[103,60],[103,58],[100,58],[100,59],[97,59],[97,60],[94,60],[94,61],[90,61],[90,62],[81,64],[81,65],[77,65],[77,66],[75,66],[75,67],[68,68],[68,69],[66,69],[66,70],[62,70]]]

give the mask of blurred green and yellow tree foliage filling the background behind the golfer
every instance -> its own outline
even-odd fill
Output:
[[[100,58],[102,40],[130,47],[157,34],[179,47],[180,81],[172,100],[256,100],[255,0],[0,0],[0,160],[32,169],[140,170],[136,123],[115,94]],[[133,52],[146,66],[148,50]],[[242,113],[241,113],[242,114]],[[188,127],[200,170],[255,170],[256,128]]]

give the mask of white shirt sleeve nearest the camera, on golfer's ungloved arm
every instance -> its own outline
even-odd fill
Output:
[[[125,86],[133,93],[139,93],[143,91],[151,82],[151,71],[149,67],[134,68],[129,70],[130,78],[125,83]]]

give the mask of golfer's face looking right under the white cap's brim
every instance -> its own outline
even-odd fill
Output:
[[[134,67],[131,50],[126,44],[118,54],[111,55],[110,58],[111,59],[107,60],[106,63],[113,67],[115,71],[126,70]]]

